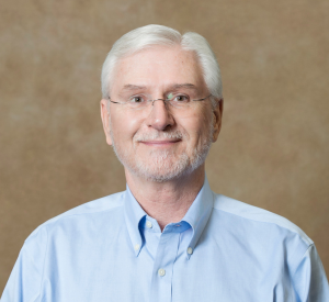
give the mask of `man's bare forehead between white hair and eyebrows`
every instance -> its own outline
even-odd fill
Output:
[[[129,85],[156,89],[184,83],[205,88],[196,55],[180,46],[155,46],[118,60],[111,90],[118,93]]]

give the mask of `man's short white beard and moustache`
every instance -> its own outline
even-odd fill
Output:
[[[197,145],[191,156],[189,156],[186,150],[184,150],[178,156],[178,158],[173,152],[161,149],[154,149],[145,157],[133,157],[126,152],[126,149],[118,147],[112,132],[111,138],[113,149],[118,160],[132,174],[151,181],[164,182],[192,174],[205,161],[212,145],[213,133],[214,126],[212,121],[204,142],[201,142]],[[138,134],[137,132],[134,136],[134,147],[136,147],[136,144],[140,141],[151,141],[157,138],[184,139],[184,136],[185,135],[183,135],[180,131],[162,132],[155,130],[150,134]]]

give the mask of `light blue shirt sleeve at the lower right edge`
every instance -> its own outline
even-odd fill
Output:
[[[298,302],[329,301],[328,280],[315,245],[310,245],[304,254],[293,283]]]

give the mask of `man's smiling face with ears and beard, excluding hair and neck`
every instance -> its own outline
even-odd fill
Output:
[[[209,94],[202,69],[192,52],[156,46],[121,59],[111,85],[112,101],[131,97],[166,99],[183,93],[192,100]],[[106,141],[126,172],[167,181],[202,168],[222,121],[222,103],[211,99],[177,110],[163,101],[145,109],[101,101]]]

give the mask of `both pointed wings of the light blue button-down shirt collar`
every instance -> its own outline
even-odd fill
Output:
[[[125,222],[127,225],[128,234],[132,241],[133,249],[136,257],[139,255],[143,238],[140,235],[140,222],[147,215],[146,212],[141,209],[137,200],[134,198],[128,186],[125,192]],[[189,251],[186,248],[186,256],[190,259],[191,254],[193,253],[198,238],[203,230],[205,228],[206,223],[211,216],[214,204],[213,192],[209,188],[207,178],[205,177],[204,184],[193,201],[192,205],[188,210],[186,214],[182,219],[182,222],[186,222],[192,227],[192,237],[189,245]],[[191,253],[192,250],[192,253]]]

